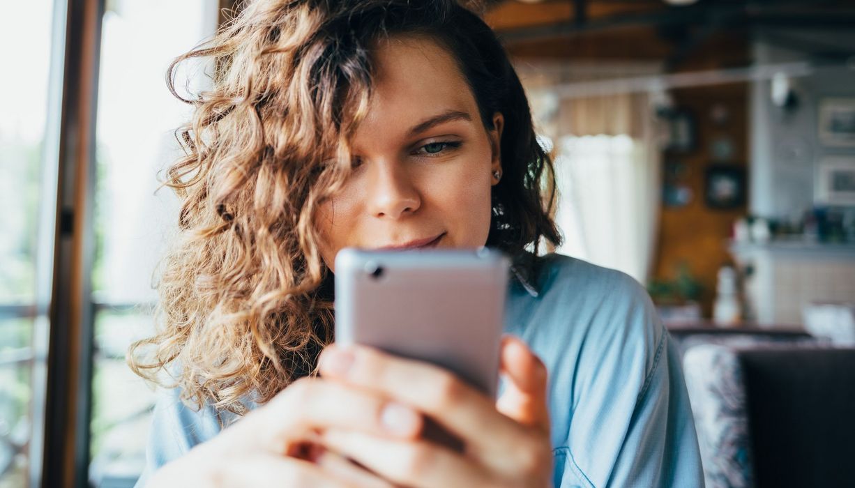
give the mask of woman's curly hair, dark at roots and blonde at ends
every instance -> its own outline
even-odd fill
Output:
[[[182,198],[180,238],[162,262],[157,331],[132,344],[135,373],[180,387],[198,408],[243,414],[310,374],[333,339],[331,273],[317,209],[351,171],[349,141],[369,108],[372,48],[422,35],[446,47],[481,121],[505,115],[504,178],[492,190],[487,245],[516,255],[560,240],[551,160],[492,30],[451,0],[257,0],[212,40],[179,56],[214,61],[213,86],[177,134],[166,173]],[[547,181],[545,185],[544,182]],[[173,373],[165,379],[163,372]]]

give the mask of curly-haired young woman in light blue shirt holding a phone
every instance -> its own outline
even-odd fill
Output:
[[[160,328],[129,356],[169,386],[139,485],[703,485],[645,291],[537,256],[559,241],[551,161],[476,15],[445,0],[257,0],[176,62],[202,56],[214,85],[189,101],[168,179],[183,237]],[[329,345],[342,248],[485,244],[515,263],[498,403],[438,367]],[[463,451],[422,438],[428,419]]]

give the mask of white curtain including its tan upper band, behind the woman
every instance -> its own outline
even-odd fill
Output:
[[[657,238],[663,137],[647,93],[568,96],[568,83],[654,73],[655,67],[522,68],[534,119],[552,155],[560,193],[557,252],[645,283]]]

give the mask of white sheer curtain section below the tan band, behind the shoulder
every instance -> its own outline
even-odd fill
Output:
[[[556,220],[565,242],[557,252],[646,282],[659,203],[659,165],[652,152],[625,134],[559,139]]]

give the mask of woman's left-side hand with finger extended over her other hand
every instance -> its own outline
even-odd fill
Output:
[[[370,391],[300,379],[215,438],[162,467],[147,486],[392,486],[345,458],[318,449],[318,432],[326,429],[404,441],[416,438],[422,417]]]

